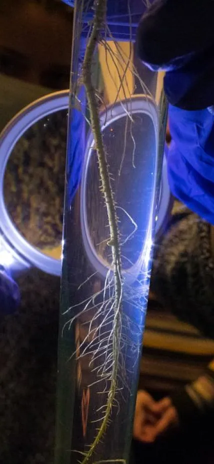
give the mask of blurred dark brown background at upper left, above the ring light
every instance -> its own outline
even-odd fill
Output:
[[[0,130],[25,105],[69,87],[72,9],[60,0],[0,2]]]

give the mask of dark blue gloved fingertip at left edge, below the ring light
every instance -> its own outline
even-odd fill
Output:
[[[0,266],[0,316],[12,314],[20,302],[20,293],[17,284]]]

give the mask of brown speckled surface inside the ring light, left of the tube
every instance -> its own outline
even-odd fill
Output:
[[[42,118],[15,144],[4,174],[7,211],[40,249],[61,242],[66,136],[66,110]]]

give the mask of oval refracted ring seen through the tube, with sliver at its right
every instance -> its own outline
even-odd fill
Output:
[[[129,108],[130,107],[130,108]],[[100,115],[100,125],[102,128],[102,131],[109,126],[109,124],[112,124],[114,121],[120,119],[121,117],[124,117],[126,112],[130,112],[132,114],[147,114],[152,122],[153,122],[153,127],[154,131],[156,134],[156,150],[158,149],[158,110],[156,104],[153,102],[151,98],[149,98],[147,95],[134,95],[131,98],[130,102],[118,102],[113,105],[113,107],[109,107],[107,110],[105,110],[101,115]],[[106,261],[102,260],[101,258],[98,257],[94,246],[91,242],[90,234],[88,231],[88,225],[87,225],[87,208],[86,208],[86,178],[87,178],[87,169],[88,169],[88,164],[90,160],[90,156],[93,152],[94,149],[94,140],[93,140],[93,135],[92,133],[89,134],[87,143],[86,143],[86,150],[85,150],[85,157],[84,157],[84,165],[83,165],[83,171],[82,171],[82,181],[81,181],[81,191],[80,191],[80,220],[81,220],[81,231],[82,231],[82,238],[83,238],[83,243],[85,247],[85,251],[87,254],[88,259],[90,260],[90,263],[92,264],[93,268],[103,277],[105,278],[107,269],[109,269],[109,264],[106,263]],[[156,157],[156,166],[157,166],[157,153],[155,154]],[[165,165],[166,165],[166,160],[164,159],[164,171],[165,171]],[[156,175],[156,166],[155,166],[155,175]],[[155,182],[155,180],[154,180]],[[164,217],[166,215],[166,212],[169,207],[169,200],[170,200],[170,192],[168,188],[168,183],[167,183],[167,178],[166,178],[166,173],[164,172],[163,176],[163,182],[161,185],[161,190],[160,190],[160,209],[162,206],[162,201],[164,202],[164,207],[162,208],[161,214],[159,214],[159,217],[157,219],[156,223],[156,232],[161,228],[162,223],[164,221]],[[148,235],[150,234],[150,230],[148,230]],[[126,278],[127,279],[135,279],[135,276],[138,275],[139,270],[142,265],[142,256],[140,256],[135,263],[134,266],[131,267],[131,269],[125,271]]]

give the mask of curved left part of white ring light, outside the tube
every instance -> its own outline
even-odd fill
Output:
[[[36,100],[20,111],[4,128],[0,134],[0,234],[11,249],[16,259],[44,271],[48,274],[60,276],[61,262],[44,255],[30,245],[19,233],[12,222],[3,197],[3,180],[7,160],[16,142],[26,130],[40,119],[56,111],[68,109],[69,91],[55,92]],[[14,252],[14,253],[13,253]]]

